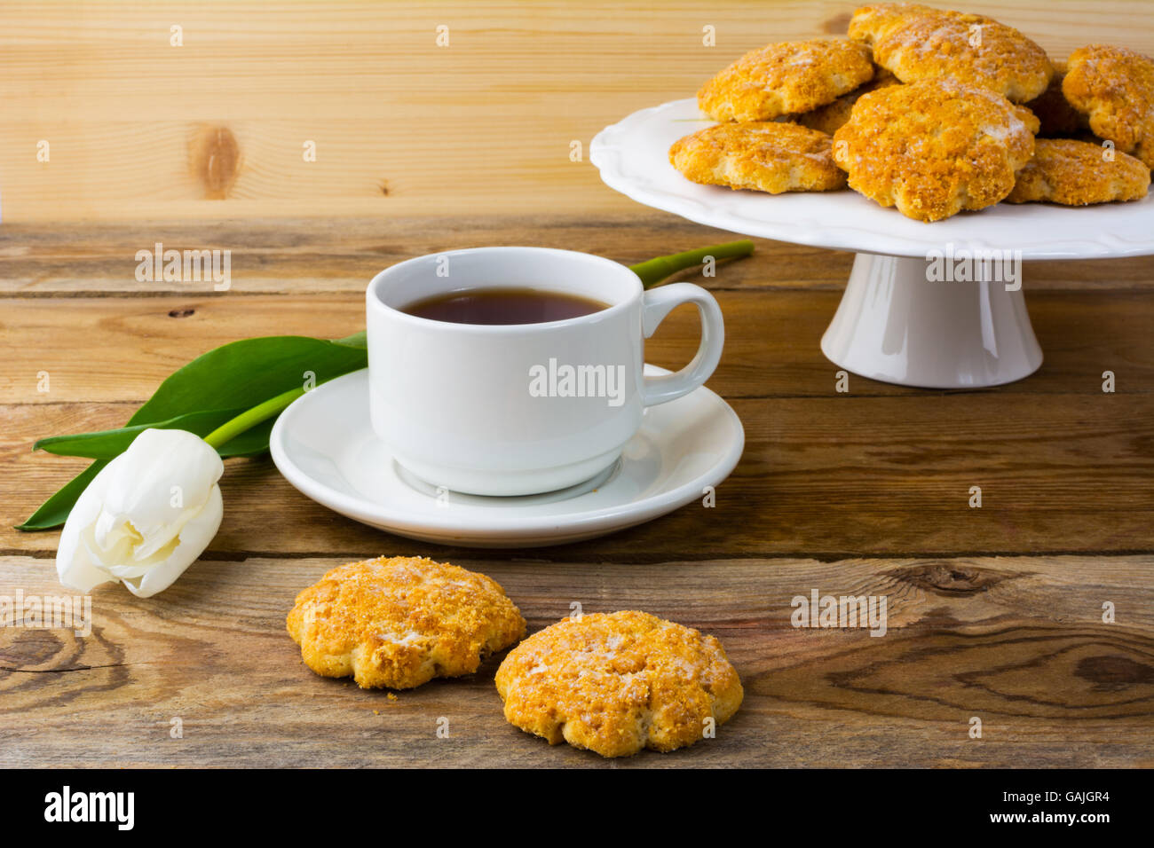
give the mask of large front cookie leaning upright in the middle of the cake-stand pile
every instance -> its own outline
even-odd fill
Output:
[[[849,187],[908,218],[984,209],[1034,155],[1037,119],[988,89],[922,80],[863,95],[833,136]]]

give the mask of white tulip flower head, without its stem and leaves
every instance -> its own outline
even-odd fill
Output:
[[[220,527],[224,463],[187,430],[142,431],[76,501],[57,548],[80,592],[120,580],[138,598],[172,585]]]

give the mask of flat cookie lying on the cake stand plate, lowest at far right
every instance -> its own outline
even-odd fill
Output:
[[[1132,156],[1072,138],[1039,138],[1006,201],[1067,207],[1137,201],[1149,185],[1149,168]]]

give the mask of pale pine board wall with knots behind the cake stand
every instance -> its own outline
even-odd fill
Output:
[[[1154,52],[1142,3],[973,0],[1056,58]],[[0,182],[15,220],[625,212],[570,143],[689,97],[771,40],[845,31],[852,2],[7,3]],[[162,10],[163,9],[163,10]],[[449,46],[436,27],[449,27]],[[183,46],[170,45],[180,25]],[[715,46],[703,44],[713,27]],[[237,163],[216,185],[200,144]],[[37,159],[40,142],[50,160]],[[317,145],[305,162],[302,145]],[[215,159],[219,165],[220,158]],[[219,174],[218,174],[219,175]],[[224,200],[209,200],[223,197]]]

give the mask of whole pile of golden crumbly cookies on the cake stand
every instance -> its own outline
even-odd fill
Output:
[[[857,9],[848,39],[751,51],[697,102],[718,123],[669,149],[688,179],[848,185],[923,222],[1002,201],[1139,200],[1154,167],[1149,57],[1091,45],[1055,66],[1012,27],[917,3]]]

